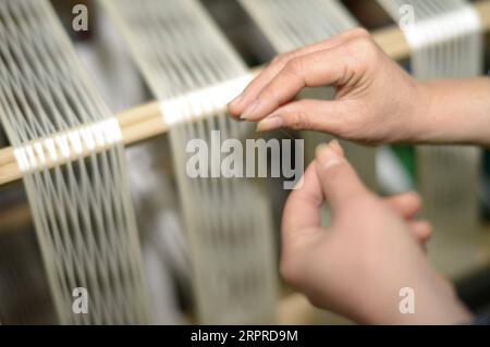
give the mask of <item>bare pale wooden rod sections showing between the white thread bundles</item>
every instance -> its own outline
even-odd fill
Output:
[[[475,9],[481,17],[483,33],[490,32],[490,0],[475,2]],[[404,34],[396,26],[390,26],[372,32],[373,39],[393,60],[401,61],[409,57],[408,47]],[[254,70],[258,73],[261,67]],[[163,121],[158,101],[130,109],[117,114],[121,126],[123,142],[126,146],[146,140],[154,136],[167,133],[168,125]],[[22,172],[17,166],[13,149],[7,147],[0,150],[0,186],[13,183],[22,178]]]

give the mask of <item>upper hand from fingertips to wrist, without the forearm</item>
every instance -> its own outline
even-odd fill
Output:
[[[335,87],[335,98],[292,99],[305,87]],[[360,142],[417,137],[429,98],[362,28],[274,59],[229,104],[258,131],[313,129]]]

